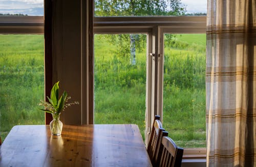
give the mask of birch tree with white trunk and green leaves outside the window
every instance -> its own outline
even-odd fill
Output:
[[[95,0],[95,16],[157,16],[157,15],[184,15],[185,6],[181,0]],[[119,35],[118,40],[127,40],[130,36],[130,46],[121,42],[119,56],[130,47],[130,63],[136,64],[136,47],[142,47],[145,40],[136,34]],[[116,41],[114,36],[108,36],[109,41]],[[169,38],[172,37],[169,35]],[[114,43],[115,45],[115,43]]]

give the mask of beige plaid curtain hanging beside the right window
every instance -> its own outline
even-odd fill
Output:
[[[207,166],[256,166],[256,0],[208,0]]]

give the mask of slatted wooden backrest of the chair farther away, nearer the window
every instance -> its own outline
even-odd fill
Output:
[[[154,165],[154,159],[156,159],[157,150],[160,147],[161,138],[160,133],[164,131],[162,123],[160,122],[160,116],[155,116],[155,120],[152,126],[150,142],[147,145],[147,153]]]

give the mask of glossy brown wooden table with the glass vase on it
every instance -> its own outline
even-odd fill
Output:
[[[0,146],[0,166],[152,166],[134,124],[14,126]]]

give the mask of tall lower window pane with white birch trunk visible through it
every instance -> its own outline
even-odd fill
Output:
[[[95,124],[137,124],[144,138],[146,35],[94,37]]]

